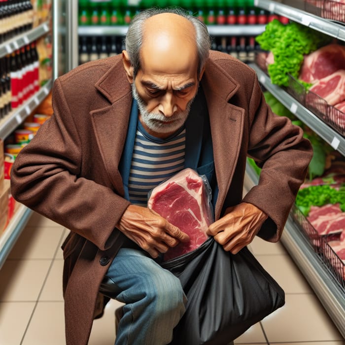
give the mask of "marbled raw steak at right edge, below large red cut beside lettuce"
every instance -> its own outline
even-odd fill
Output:
[[[339,69],[328,77],[318,80],[310,91],[330,105],[345,101],[345,69]]]

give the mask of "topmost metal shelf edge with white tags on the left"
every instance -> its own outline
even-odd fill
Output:
[[[29,44],[35,39],[43,36],[49,32],[49,22],[45,22],[37,26],[36,28],[27,31],[21,35],[17,35],[0,44],[0,58],[11,54],[13,51],[21,48],[22,46]]]

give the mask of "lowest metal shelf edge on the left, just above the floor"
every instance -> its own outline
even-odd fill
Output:
[[[8,223],[5,231],[0,235],[0,269],[19,235],[22,233],[32,212],[30,208],[20,205]]]

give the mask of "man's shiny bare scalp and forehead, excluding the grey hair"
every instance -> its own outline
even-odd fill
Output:
[[[178,74],[198,67],[198,49],[193,24],[174,13],[148,18],[143,25],[141,67]]]

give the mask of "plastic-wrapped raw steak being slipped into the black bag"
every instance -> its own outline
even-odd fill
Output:
[[[207,240],[206,231],[212,223],[212,213],[203,179],[192,169],[184,169],[154,188],[148,208],[190,237],[189,242],[181,242],[169,249],[164,255],[165,260],[192,251]]]

